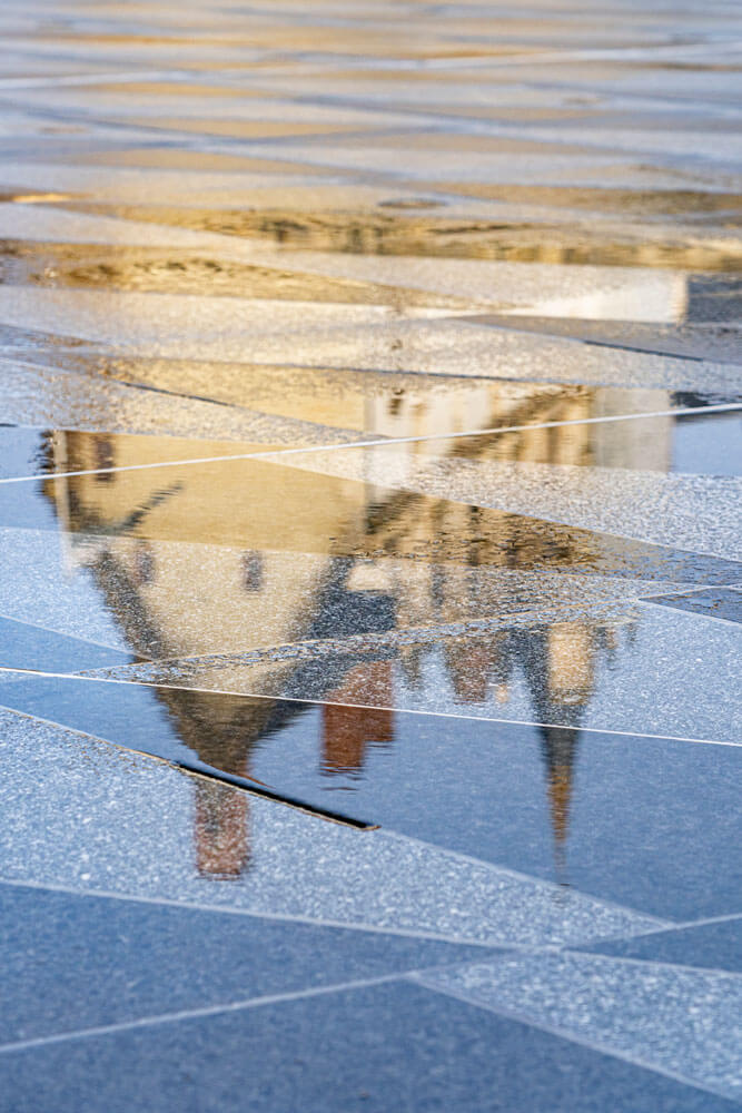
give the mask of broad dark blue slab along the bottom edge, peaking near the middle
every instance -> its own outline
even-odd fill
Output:
[[[2,1113],[733,1113],[732,1101],[392,983],[0,1056]]]

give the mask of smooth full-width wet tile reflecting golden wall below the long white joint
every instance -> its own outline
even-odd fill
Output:
[[[395,558],[686,583],[734,579],[733,561],[265,460],[103,474],[103,482],[92,474],[0,484],[0,523],[61,528],[70,536],[206,542],[247,552]]]

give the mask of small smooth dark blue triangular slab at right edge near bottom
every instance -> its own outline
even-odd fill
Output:
[[[742,974],[742,913],[733,919],[652,932],[587,948],[596,954],[646,962],[705,966]]]

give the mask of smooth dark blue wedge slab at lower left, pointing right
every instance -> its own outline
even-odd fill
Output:
[[[479,953],[431,939],[0,884],[0,1044],[471,962]]]

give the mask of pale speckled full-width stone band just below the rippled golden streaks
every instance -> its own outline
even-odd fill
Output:
[[[538,337],[441,317],[445,309],[395,311],[319,303],[257,302],[186,295],[3,287],[0,321],[113,346],[118,354],[255,363],[360,367],[593,386],[739,392],[733,364],[702,363]],[[363,311],[363,312],[360,312]],[[410,319],[417,318],[417,319]]]

